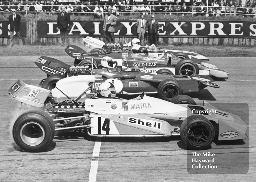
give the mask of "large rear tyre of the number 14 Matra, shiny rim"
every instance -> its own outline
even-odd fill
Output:
[[[55,127],[44,111],[29,110],[20,115],[12,128],[15,143],[27,152],[45,150],[52,142]]]

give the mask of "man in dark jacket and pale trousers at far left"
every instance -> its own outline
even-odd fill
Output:
[[[16,32],[16,35],[19,39],[20,46],[23,45],[22,39],[20,37],[20,15],[16,14],[16,10],[12,9],[12,15],[9,16],[9,22],[10,22],[10,47],[13,45],[13,36],[14,36],[14,31]]]

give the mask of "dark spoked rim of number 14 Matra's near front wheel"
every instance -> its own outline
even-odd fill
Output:
[[[188,143],[195,147],[202,147],[211,140],[209,127],[203,123],[196,123],[188,128]]]

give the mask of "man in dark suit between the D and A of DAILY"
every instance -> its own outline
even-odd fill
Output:
[[[69,44],[68,40],[68,31],[70,25],[70,16],[65,12],[65,6],[61,6],[61,12],[58,14],[57,18],[57,30],[60,30],[61,36],[61,46],[65,47],[65,40],[67,45]]]

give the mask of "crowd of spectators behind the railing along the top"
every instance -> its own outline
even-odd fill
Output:
[[[15,9],[17,12],[61,12],[61,7],[65,6],[65,11],[74,15],[93,15],[95,18],[103,19],[108,9],[112,14],[130,15],[140,13],[148,15],[150,13],[164,13],[166,15],[187,15],[195,16],[222,16],[222,15],[242,15],[244,17],[256,16],[256,0],[216,0],[211,1],[208,6],[201,2],[193,4],[180,3],[155,3],[148,1],[147,4],[133,3],[123,0],[113,0],[112,3],[99,4],[98,1],[23,1],[23,0],[0,0],[0,13],[9,12]]]

